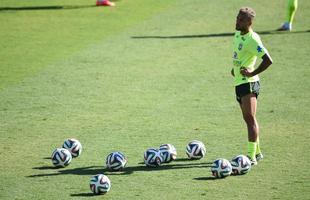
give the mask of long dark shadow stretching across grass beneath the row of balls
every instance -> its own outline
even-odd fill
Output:
[[[178,159],[179,161],[183,161],[183,159]],[[185,161],[185,160],[184,160]],[[140,164],[137,166],[128,166],[125,167],[122,171],[112,172],[103,166],[88,166],[88,167],[81,167],[81,168],[56,168],[52,166],[42,166],[42,167],[34,167],[33,169],[38,170],[57,170],[53,173],[42,173],[42,174],[34,174],[27,176],[28,178],[35,178],[35,177],[43,177],[43,176],[57,176],[57,175],[95,175],[95,174],[106,174],[106,175],[130,175],[134,172],[152,172],[152,171],[161,171],[161,170],[176,170],[176,169],[187,169],[187,168],[206,168],[211,167],[212,163],[210,162],[194,162],[191,160],[186,159],[187,163],[169,163],[164,164],[159,167],[147,167],[144,164]],[[191,162],[191,163],[189,163]]]

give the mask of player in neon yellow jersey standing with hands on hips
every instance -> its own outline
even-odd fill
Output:
[[[248,154],[252,165],[263,158],[259,144],[259,127],[256,120],[257,96],[260,83],[258,74],[266,70],[272,59],[257,33],[252,30],[255,11],[242,7],[236,19],[236,33],[233,40],[233,68],[236,98],[248,131]],[[257,57],[262,58],[255,68]]]

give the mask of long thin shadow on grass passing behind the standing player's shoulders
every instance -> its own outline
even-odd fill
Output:
[[[257,31],[259,35],[272,35],[272,34],[297,34],[297,33],[310,33],[310,30],[304,31]],[[211,34],[199,34],[199,35],[172,35],[172,36],[132,36],[132,39],[189,39],[189,38],[213,38],[213,37],[232,37],[235,33],[211,33]]]

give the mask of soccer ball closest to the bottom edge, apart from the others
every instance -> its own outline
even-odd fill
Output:
[[[94,194],[105,194],[111,189],[111,181],[106,175],[97,174],[90,179],[89,186]]]

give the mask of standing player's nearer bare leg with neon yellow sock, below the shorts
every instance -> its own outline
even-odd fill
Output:
[[[241,110],[243,119],[248,129],[248,157],[252,164],[256,164],[257,137],[259,126],[256,120],[257,96],[254,93],[247,94],[241,98]]]

